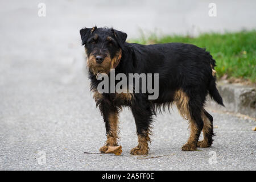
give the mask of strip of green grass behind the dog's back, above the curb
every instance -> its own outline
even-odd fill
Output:
[[[241,31],[225,34],[208,33],[196,38],[189,36],[163,36],[152,34],[148,38],[132,40],[140,44],[189,43],[206,48],[216,60],[218,77],[227,75],[256,82],[256,31]]]

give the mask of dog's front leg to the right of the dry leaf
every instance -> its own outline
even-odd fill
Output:
[[[138,101],[140,100],[140,101]],[[151,134],[150,124],[152,122],[152,109],[148,101],[138,98],[131,106],[131,111],[136,123],[138,146],[131,150],[132,155],[147,155],[149,135]]]

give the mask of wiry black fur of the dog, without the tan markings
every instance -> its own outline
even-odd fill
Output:
[[[87,42],[90,36],[97,34],[102,40],[103,48],[108,49],[113,57],[119,48],[122,49],[122,58],[115,68],[115,74],[125,73],[159,73],[159,97],[157,100],[148,100],[148,94],[134,94],[133,101],[115,100],[115,94],[102,94],[97,100],[97,106],[106,123],[106,133],[109,131],[108,113],[118,111],[122,106],[129,106],[133,112],[138,135],[149,132],[152,115],[156,110],[161,110],[172,104],[177,90],[182,90],[189,97],[189,112],[196,122],[199,131],[203,129],[204,123],[201,111],[209,93],[218,104],[223,105],[222,98],[216,88],[216,78],[212,75],[212,69],[216,66],[215,60],[203,48],[192,44],[167,43],[144,46],[136,43],[125,42],[127,35],[113,28],[84,28],[80,31],[82,44],[89,53],[93,46]],[[90,32],[92,33],[90,33]],[[104,43],[106,36],[112,36],[114,46],[109,48]],[[99,44],[100,44],[99,43]],[[91,90],[97,90],[100,81],[96,75],[89,71]],[[212,123],[212,116],[204,110],[205,115]],[[197,134],[199,137],[200,132]],[[209,133],[209,142],[212,144],[213,130]]]

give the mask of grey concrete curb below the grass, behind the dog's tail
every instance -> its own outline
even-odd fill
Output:
[[[217,83],[218,92],[220,92],[225,107],[222,107],[210,98],[208,106],[217,110],[231,111],[249,115],[256,118],[256,88],[242,84],[229,84],[227,81]]]

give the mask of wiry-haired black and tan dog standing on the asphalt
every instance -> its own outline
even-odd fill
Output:
[[[207,94],[223,105],[216,88],[215,61],[205,49],[183,43],[140,45],[127,43],[127,34],[113,28],[83,28],[82,45],[88,56],[91,90],[106,126],[108,146],[117,146],[118,113],[129,106],[137,126],[138,146],[133,155],[148,154],[152,116],[158,109],[175,103],[180,114],[189,120],[191,130],[183,151],[210,147],[213,142],[213,117],[204,109]],[[148,93],[102,93],[97,90],[98,73],[159,73],[159,97],[148,100]],[[200,142],[203,130],[204,139]]]

